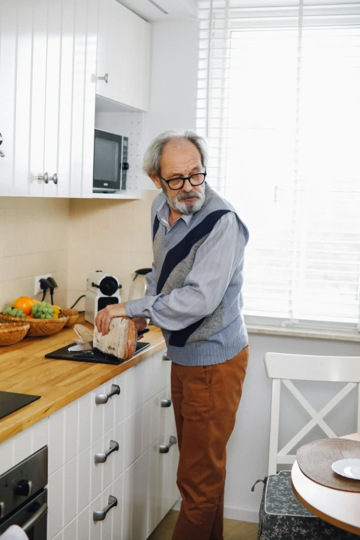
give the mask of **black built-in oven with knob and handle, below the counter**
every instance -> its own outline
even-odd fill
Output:
[[[0,535],[18,525],[29,540],[46,540],[48,447],[0,476]]]

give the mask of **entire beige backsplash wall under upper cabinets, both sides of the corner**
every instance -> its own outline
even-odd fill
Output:
[[[59,286],[54,301],[60,306],[84,294],[95,270],[114,274],[126,301],[132,272],[152,263],[156,195],[143,191],[139,201],[0,197],[0,308],[34,297],[34,277],[48,272]],[[83,300],[77,308],[85,308]]]

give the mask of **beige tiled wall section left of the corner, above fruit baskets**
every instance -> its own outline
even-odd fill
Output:
[[[0,308],[34,297],[34,277],[52,273],[66,303],[69,199],[0,197]]]

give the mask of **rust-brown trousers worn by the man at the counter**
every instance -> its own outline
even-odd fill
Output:
[[[249,348],[213,366],[172,363],[182,502],[172,540],[223,540],[226,444],[234,429]]]

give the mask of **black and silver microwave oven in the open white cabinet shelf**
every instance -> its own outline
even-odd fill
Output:
[[[94,193],[114,193],[126,190],[128,173],[128,137],[95,130]]]

